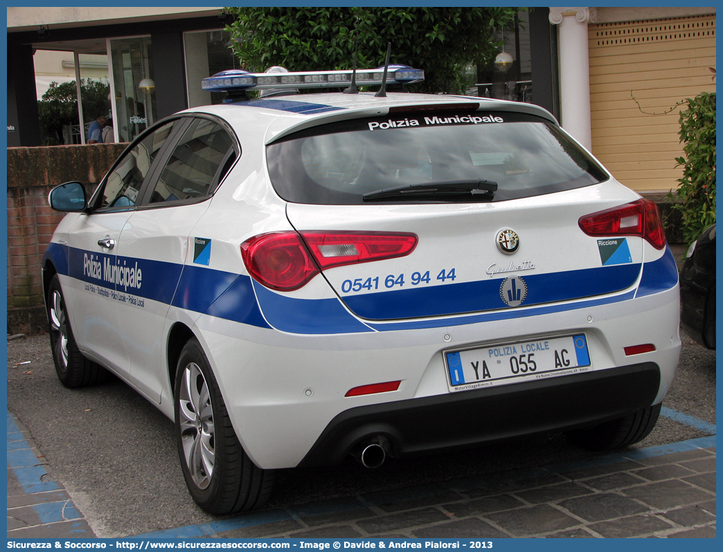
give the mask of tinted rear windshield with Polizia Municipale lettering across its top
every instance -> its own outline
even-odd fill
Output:
[[[560,128],[521,113],[408,113],[340,121],[268,145],[274,189],[288,202],[366,204],[400,186],[481,179],[492,194],[412,194],[375,203],[504,201],[609,178]]]

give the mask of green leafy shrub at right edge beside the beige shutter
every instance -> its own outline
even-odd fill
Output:
[[[683,178],[669,198],[677,199],[673,208],[682,215],[683,237],[692,242],[716,222],[716,93],[701,92],[684,105],[678,134],[685,157],[675,159]]]

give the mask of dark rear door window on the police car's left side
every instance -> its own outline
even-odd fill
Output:
[[[223,126],[194,119],[168,158],[150,203],[208,196],[235,159],[234,141]]]

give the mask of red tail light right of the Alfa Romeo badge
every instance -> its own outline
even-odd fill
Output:
[[[655,249],[663,249],[666,243],[658,207],[650,199],[586,215],[578,224],[588,236],[640,236]]]

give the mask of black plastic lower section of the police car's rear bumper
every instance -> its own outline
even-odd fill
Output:
[[[385,436],[401,457],[600,423],[653,404],[652,362],[513,386],[385,402],[333,418],[299,466],[341,462],[365,439]]]

